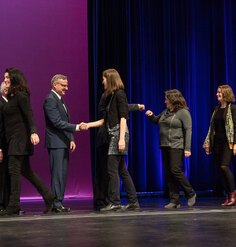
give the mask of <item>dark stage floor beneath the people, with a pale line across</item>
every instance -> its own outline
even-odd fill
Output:
[[[100,213],[91,199],[70,199],[72,212],[47,215],[42,201],[23,201],[25,215],[0,218],[0,247],[236,246],[236,206],[222,200],[198,197],[188,208],[183,198],[166,210],[167,199],[141,197],[139,211]]]

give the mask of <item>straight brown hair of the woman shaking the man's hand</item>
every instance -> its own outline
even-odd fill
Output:
[[[117,70],[107,69],[103,71],[102,75],[107,79],[107,88],[105,90],[106,96],[117,89],[125,88]]]

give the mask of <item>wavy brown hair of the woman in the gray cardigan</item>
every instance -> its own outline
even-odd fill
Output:
[[[175,111],[182,109],[182,108],[188,110],[188,106],[185,101],[185,98],[179,90],[171,89],[171,90],[165,91],[165,96],[170,101],[170,103],[173,105]]]

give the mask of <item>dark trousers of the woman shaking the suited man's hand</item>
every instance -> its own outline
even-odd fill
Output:
[[[126,168],[124,155],[109,155],[107,158],[108,199],[112,204],[120,204],[120,177],[128,195],[128,203],[137,201],[136,189]]]

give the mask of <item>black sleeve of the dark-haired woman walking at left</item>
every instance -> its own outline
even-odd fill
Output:
[[[29,127],[30,133],[37,133],[29,95],[27,93],[19,92],[17,93],[17,100],[21,113],[26,121],[27,126]]]

